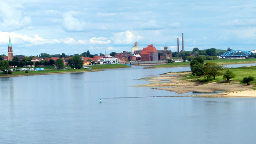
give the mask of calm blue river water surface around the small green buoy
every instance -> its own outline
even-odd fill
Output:
[[[136,79],[190,68],[142,68],[0,78],[0,143],[256,143],[255,98],[148,97],[180,95]]]

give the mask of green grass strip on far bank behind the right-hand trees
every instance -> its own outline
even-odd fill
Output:
[[[218,64],[249,64],[256,63],[256,58],[246,58],[240,60],[204,60],[206,62],[215,62]],[[190,62],[174,62],[168,64],[162,64],[157,66],[152,66],[151,68],[168,68],[168,67],[177,67],[177,66],[189,66]]]

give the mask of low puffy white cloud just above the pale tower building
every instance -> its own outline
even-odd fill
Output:
[[[136,36],[129,30],[126,32],[113,33],[113,36],[112,40],[114,44],[133,44],[134,42],[143,40],[142,36]]]

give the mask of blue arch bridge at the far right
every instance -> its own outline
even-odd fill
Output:
[[[225,52],[220,57],[221,58],[228,58],[228,59],[238,59],[238,58],[246,58],[250,56],[252,53],[248,52],[247,50],[230,50]]]

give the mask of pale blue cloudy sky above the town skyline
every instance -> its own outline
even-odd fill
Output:
[[[256,49],[254,0],[0,0],[0,54]]]

